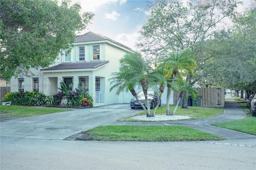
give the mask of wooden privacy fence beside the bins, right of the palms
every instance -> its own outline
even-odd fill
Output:
[[[224,88],[197,88],[199,97],[199,106],[202,107],[224,107],[225,94]],[[179,98],[179,92],[174,92],[174,105]]]

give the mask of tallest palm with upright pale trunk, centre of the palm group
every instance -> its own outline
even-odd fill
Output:
[[[191,58],[192,52],[190,49],[182,50],[181,52],[172,53],[164,61],[164,75],[166,80],[174,81],[178,73],[183,74],[185,71],[193,72],[197,66],[196,62]],[[173,83],[167,83],[167,98],[166,98],[166,115],[171,115],[170,97]]]

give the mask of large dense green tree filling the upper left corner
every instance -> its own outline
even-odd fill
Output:
[[[1,76],[10,79],[52,64],[92,19],[92,13],[80,10],[66,0],[1,0]]]

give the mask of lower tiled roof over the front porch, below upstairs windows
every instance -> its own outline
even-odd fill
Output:
[[[65,69],[96,69],[102,65],[109,63],[109,61],[100,62],[83,62],[83,63],[61,63],[52,67],[41,70],[65,70]]]

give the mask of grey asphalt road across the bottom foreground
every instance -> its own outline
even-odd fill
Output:
[[[255,140],[248,139],[246,143],[247,146],[243,140],[99,142],[1,137],[1,170],[255,169]]]

